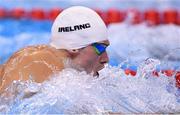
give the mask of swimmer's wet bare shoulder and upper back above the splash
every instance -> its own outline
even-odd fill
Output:
[[[43,82],[64,68],[63,57],[58,55],[55,48],[47,45],[23,48],[4,64],[1,72],[3,84],[6,87],[13,80],[28,80],[30,76],[36,82]]]

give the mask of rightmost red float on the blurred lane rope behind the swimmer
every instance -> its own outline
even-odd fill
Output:
[[[174,9],[165,10],[163,12],[163,22],[165,24],[178,24],[178,12]]]

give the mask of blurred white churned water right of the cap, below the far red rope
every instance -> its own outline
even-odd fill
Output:
[[[138,63],[153,57],[166,62],[176,61],[177,65],[180,60],[179,36],[180,27],[176,25],[148,27],[146,24],[112,24],[109,26],[111,45],[108,54],[110,58],[121,61],[128,59]]]

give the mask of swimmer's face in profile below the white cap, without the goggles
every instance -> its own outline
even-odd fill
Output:
[[[102,42],[105,46],[109,45],[109,41],[105,40]],[[107,52],[103,52],[98,55],[94,46],[89,45],[80,50],[79,55],[74,59],[75,64],[83,68],[87,73],[93,72],[94,75],[98,74],[98,71],[104,68],[104,64],[109,61]]]

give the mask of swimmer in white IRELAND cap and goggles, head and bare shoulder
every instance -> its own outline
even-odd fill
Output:
[[[0,92],[14,80],[41,83],[67,67],[97,76],[108,62],[108,45],[106,25],[95,11],[82,6],[65,9],[53,23],[49,45],[23,48],[3,64]]]

